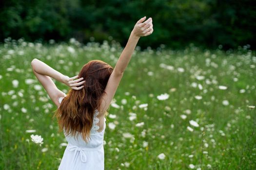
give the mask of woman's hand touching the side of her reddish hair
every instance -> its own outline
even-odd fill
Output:
[[[85,81],[82,81],[83,77],[81,77],[79,79],[77,79],[77,78],[78,78],[78,75],[75,77],[71,77],[71,78],[68,76],[63,76],[62,82],[74,90],[80,90],[84,87],[84,85],[82,85],[82,84],[84,84]],[[77,80],[75,80],[75,79],[77,79]],[[79,85],[82,85],[82,86],[78,87]]]

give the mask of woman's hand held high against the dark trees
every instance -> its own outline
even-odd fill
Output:
[[[142,17],[138,20],[138,22],[134,26],[132,34],[141,37],[148,36],[153,33],[152,18],[150,17],[146,21],[145,19],[146,17]]]

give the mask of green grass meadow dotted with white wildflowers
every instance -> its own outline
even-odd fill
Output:
[[[105,169],[255,170],[256,54],[247,48],[137,48],[106,117]],[[0,45],[0,170],[57,170],[66,147],[52,119],[56,106],[32,73],[33,58],[74,76],[93,59],[114,67],[121,50],[107,42],[6,39]],[[41,146],[32,134],[43,138]]]

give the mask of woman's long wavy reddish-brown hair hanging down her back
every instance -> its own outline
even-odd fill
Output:
[[[79,78],[85,80],[84,87],[81,90],[70,89],[54,114],[60,132],[63,128],[67,135],[75,136],[77,131],[81,132],[83,139],[88,142],[94,112],[100,106],[112,72],[113,68],[100,60],[92,60],[82,67]]]

